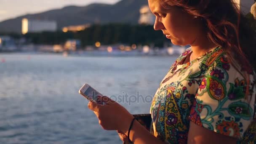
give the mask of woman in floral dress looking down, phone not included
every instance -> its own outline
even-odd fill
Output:
[[[134,144],[255,142],[255,33],[232,0],[148,0],[155,30],[191,45],[160,83],[149,133],[120,104],[88,104],[106,130]]]

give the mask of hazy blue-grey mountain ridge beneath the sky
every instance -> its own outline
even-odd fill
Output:
[[[87,23],[129,23],[136,24],[139,20],[139,9],[147,5],[147,0],[121,0],[114,5],[94,3],[83,7],[67,6],[43,13],[27,14],[15,19],[0,22],[0,32],[21,32],[21,20],[42,19],[56,20],[58,29],[69,25]]]

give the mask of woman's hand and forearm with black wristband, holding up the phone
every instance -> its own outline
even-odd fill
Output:
[[[120,139],[126,140],[123,138],[128,135],[131,121],[134,118],[133,115],[131,115],[123,106],[112,99],[109,99],[107,96],[100,97],[98,101],[101,101],[101,103],[104,102],[105,104],[96,104],[90,101],[88,108],[93,110],[98,117],[99,124],[105,130],[122,131],[124,135],[119,135]],[[149,133],[149,131],[136,120],[131,128],[129,138],[134,144],[164,144],[163,141]]]

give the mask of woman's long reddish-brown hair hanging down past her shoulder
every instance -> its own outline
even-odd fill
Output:
[[[165,9],[178,6],[203,21],[208,39],[223,48],[235,68],[240,66],[247,71],[243,76],[247,81],[246,94],[248,94],[250,85],[248,71],[251,73],[256,69],[256,32],[240,13],[238,5],[233,0],[158,1]]]

